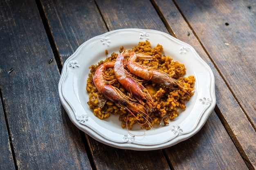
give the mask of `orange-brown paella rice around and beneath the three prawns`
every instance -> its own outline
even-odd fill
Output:
[[[120,47],[120,51],[124,51],[124,47]],[[93,75],[97,68],[103,63],[115,61],[118,54],[112,53],[110,57],[107,57],[104,61],[100,61],[98,64],[90,66],[90,74],[87,79],[86,90],[89,93],[88,105],[93,110],[94,115],[99,119],[110,117],[111,114],[119,115],[122,128],[132,129],[134,124],[139,123],[142,129],[149,130],[154,125],[160,123],[167,125],[168,120],[173,120],[179,116],[179,110],[186,109],[185,101],[188,101],[193,96],[195,77],[187,76],[186,68],[184,64],[178,61],[173,61],[170,56],[162,55],[164,50],[160,44],[157,44],[154,48],[151,48],[149,41],[139,42],[137,46],[131,49],[135,53],[144,53],[145,55],[153,56],[151,60],[137,59],[137,62],[145,66],[155,66],[158,70],[161,70],[172,78],[180,81],[184,89],[170,89],[168,87],[153,83],[148,80],[144,80],[138,76],[132,75],[141,81],[142,85],[148,90],[150,96],[153,98],[153,111],[148,112],[148,117],[145,117],[139,113],[135,113],[135,116],[129,113],[126,109],[119,107],[114,102],[106,99],[100,94],[93,83]],[[108,51],[105,51],[108,54]],[[127,57],[126,59],[128,59]],[[128,70],[126,68],[126,70]],[[129,71],[129,70],[128,70]],[[117,87],[126,96],[129,96],[133,101],[137,101],[130,92],[128,92],[117,80],[115,80],[115,73],[113,68],[107,68],[104,74],[109,77],[108,81],[114,81],[112,86]]]

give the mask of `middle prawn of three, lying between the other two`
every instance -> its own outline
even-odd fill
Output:
[[[124,69],[124,57],[129,55],[126,50],[121,52],[116,59],[114,72],[117,80],[124,88],[130,92],[142,105],[147,109],[153,111],[153,98],[148,93],[147,89],[139,83],[137,79],[131,76],[126,69]]]

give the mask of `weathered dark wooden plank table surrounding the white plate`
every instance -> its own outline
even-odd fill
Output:
[[[0,11],[0,169],[256,169],[255,0],[5,0]],[[58,96],[62,65],[120,28],[169,33],[211,67],[217,103],[196,135],[122,150],[72,124]]]

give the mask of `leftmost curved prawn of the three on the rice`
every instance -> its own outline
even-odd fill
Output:
[[[107,63],[103,63],[102,65],[97,68],[93,76],[93,83],[95,87],[98,89],[100,94],[103,94],[108,100],[116,103],[118,106],[125,108],[128,110],[137,120],[137,116],[132,113],[132,111],[137,113],[144,113],[143,116],[148,121],[148,113],[144,106],[139,105],[135,102],[132,102],[131,99],[124,95],[117,87],[112,86],[111,84],[115,82],[115,80],[108,81],[109,79],[105,74],[104,71],[107,68],[111,68],[115,65],[115,61],[110,61]]]

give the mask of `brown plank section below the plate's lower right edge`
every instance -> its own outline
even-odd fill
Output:
[[[214,112],[199,133],[164,152],[175,169],[248,169]]]

